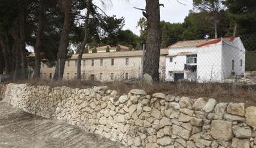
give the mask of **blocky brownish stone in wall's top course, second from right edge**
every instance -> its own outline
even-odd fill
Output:
[[[227,112],[233,115],[244,116],[244,103],[230,103],[227,107]]]

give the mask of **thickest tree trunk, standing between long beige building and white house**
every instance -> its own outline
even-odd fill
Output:
[[[143,73],[159,81],[159,60],[161,46],[159,0],[146,0],[147,41]]]

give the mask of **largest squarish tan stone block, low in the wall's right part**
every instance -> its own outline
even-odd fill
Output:
[[[233,138],[232,122],[213,120],[211,121],[211,136],[221,141],[229,141]]]

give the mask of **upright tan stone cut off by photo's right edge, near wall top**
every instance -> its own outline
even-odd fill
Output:
[[[245,110],[245,119],[247,125],[252,126],[256,130],[256,107],[247,107]]]

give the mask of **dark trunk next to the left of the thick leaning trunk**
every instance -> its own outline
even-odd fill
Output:
[[[39,28],[36,37],[36,45],[35,45],[35,68],[34,68],[34,79],[40,78],[40,41],[43,38],[43,31],[45,30],[45,12],[43,10],[43,0],[40,0],[40,8],[39,8]]]

